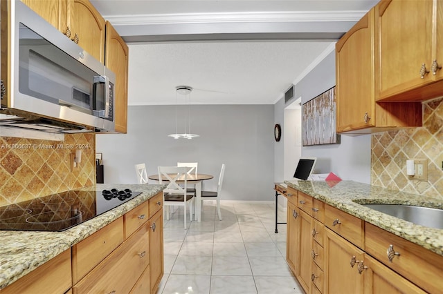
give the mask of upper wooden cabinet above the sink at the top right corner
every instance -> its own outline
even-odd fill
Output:
[[[377,101],[424,101],[442,95],[442,13],[442,0],[377,4]]]

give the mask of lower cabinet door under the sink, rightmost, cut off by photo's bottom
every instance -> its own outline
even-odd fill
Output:
[[[372,293],[419,293],[424,294],[422,289],[409,282],[401,275],[390,270],[384,264],[377,262],[369,255],[365,255],[364,288],[365,294]]]

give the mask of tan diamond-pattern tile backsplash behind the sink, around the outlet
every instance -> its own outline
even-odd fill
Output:
[[[371,182],[443,200],[443,98],[423,104],[423,126],[372,135]],[[409,179],[406,160],[428,159],[428,181]]]

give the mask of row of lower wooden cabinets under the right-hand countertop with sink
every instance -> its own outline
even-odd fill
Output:
[[[327,204],[323,224],[319,200],[310,216],[300,195],[287,204],[287,263],[306,293],[441,293],[441,255]]]

